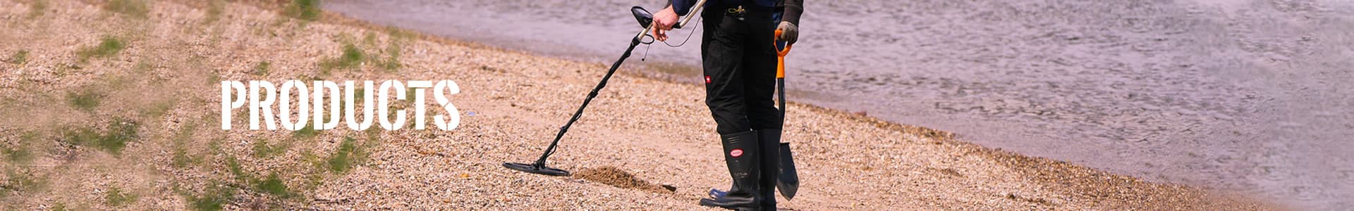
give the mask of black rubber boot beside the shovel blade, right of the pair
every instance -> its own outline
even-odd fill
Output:
[[[757,143],[761,153],[760,192],[762,210],[776,210],[776,179],[780,172],[780,128],[757,130]]]

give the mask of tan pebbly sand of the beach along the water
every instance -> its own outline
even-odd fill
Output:
[[[535,160],[604,73],[603,64],[334,14],[302,22],[278,16],[283,8],[271,3],[153,1],[145,18],[108,12],[102,1],[42,1],[43,12],[32,15],[34,3],[0,4],[7,28],[0,54],[30,51],[24,62],[0,64],[0,141],[8,149],[0,162],[3,210],[701,210],[696,200],[708,188],[728,184],[700,87],[638,77],[632,68],[593,101],[551,165],[612,169],[604,173],[674,192],[500,166]],[[126,47],[81,61],[80,51],[104,37]],[[347,45],[374,60],[322,65]],[[401,66],[382,68],[393,51]],[[219,130],[219,80],[288,78],[455,80],[462,126]],[[781,199],[781,208],[1280,208],[807,104],[792,103],[787,119],[802,187],[795,200]],[[121,149],[77,142],[91,137],[130,138]],[[31,157],[9,158],[15,149]]]

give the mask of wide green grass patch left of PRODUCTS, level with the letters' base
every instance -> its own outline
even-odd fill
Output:
[[[139,127],[141,124],[135,120],[116,118],[108,122],[108,130],[102,134],[91,127],[68,127],[62,131],[62,137],[70,145],[91,146],[121,154],[122,149],[127,147],[127,142],[141,137]]]

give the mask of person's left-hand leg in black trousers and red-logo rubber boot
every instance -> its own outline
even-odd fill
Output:
[[[743,26],[731,18],[709,19],[701,38],[705,73],[705,106],[715,119],[723,145],[724,164],[733,187],[724,197],[701,199],[701,206],[756,210],[760,206],[761,146],[747,122],[743,89]]]

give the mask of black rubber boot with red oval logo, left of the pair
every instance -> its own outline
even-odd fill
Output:
[[[700,199],[700,206],[730,210],[761,208],[761,145],[756,131],[720,135],[724,145],[724,164],[734,180],[723,197]]]

